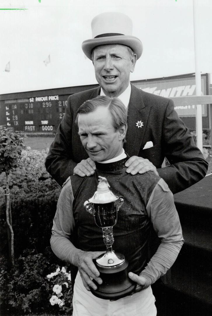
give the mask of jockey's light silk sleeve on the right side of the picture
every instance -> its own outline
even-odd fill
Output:
[[[146,210],[161,239],[156,253],[140,273],[140,276],[144,276],[152,284],[172,266],[184,240],[173,194],[163,179],[158,181],[152,191]]]

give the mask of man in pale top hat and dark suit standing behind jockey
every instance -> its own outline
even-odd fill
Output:
[[[127,173],[152,171],[159,174],[173,193],[201,180],[208,164],[191,134],[179,119],[172,100],[144,92],[130,83],[143,46],[132,36],[132,21],[122,13],[107,12],[91,22],[92,39],[82,50],[92,60],[100,87],[68,98],[65,116],[50,146],[45,166],[62,185],[68,176],[94,173],[95,164],[80,143],[74,124],[79,106],[97,95],[118,97],[126,106],[128,130],[124,149],[131,157]],[[164,158],[170,165],[162,168]]]

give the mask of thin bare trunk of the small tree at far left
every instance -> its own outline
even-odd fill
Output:
[[[10,190],[9,190],[9,174],[6,174],[6,189],[4,190],[4,195],[6,197],[6,217],[7,217],[7,225],[9,227],[9,257],[14,267],[14,232],[12,228],[12,215],[11,215],[11,207],[10,207]]]

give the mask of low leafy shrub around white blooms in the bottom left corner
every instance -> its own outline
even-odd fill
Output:
[[[50,249],[46,248],[45,254],[25,251],[10,274],[6,271],[5,264],[2,265],[0,271],[1,310],[5,314],[48,312],[70,315],[72,310],[70,277],[66,269],[61,265],[59,268],[55,260]],[[3,260],[0,262],[4,263]],[[56,275],[47,277],[55,270]],[[55,285],[61,286],[62,289],[62,293],[59,293],[62,302],[60,305],[50,303],[52,295],[56,294],[53,292]]]

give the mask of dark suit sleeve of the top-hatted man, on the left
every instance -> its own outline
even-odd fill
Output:
[[[69,96],[65,115],[58,126],[55,139],[45,161],[46,170],[61,186],[73,174],[74,167],[77,165],[72,154],[72,125],[73,113],[71,96]]]

